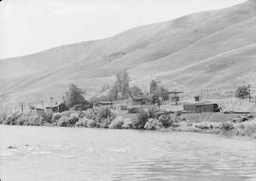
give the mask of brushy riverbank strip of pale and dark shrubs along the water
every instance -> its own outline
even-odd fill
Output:
[[[207,114],[207,116],[210,114]],[[145,129],[172,132],[194,132],[204,134],[222,134],[229,136],[250,136],[256,138],[256,119],[239,117],[228,119],[212,115],[204,119],[192,118],[193,115],[159,112],[155,108],[127,114],[108,107],[94,108],[87,111],[65,111],[47,114],[10,114],[1,115],[0,123],[6,125],[60,126],[104,129]],[[219,118],[219,119],[216,119]],[[222,118],[222,119],[221,119]]]

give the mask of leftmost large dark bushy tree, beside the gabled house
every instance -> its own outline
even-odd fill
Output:
[[[77,85],[71,83],[69,84],[69,91],[66,93],[66,104],[68,107],[73,107],[76,104],[88,103],[82,96],[84,91],[80,89]]]

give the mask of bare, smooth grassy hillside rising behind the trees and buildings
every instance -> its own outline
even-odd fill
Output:
[[[0,102],[60,99],[70,82],[97,91],[127,69],[132,83],[170,90],[256,86],[256,1],[137,27],[117,36],[0,60]]]

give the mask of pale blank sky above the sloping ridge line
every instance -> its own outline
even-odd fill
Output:
[[[2,0],[0,59],[107,38],[245,0]]]

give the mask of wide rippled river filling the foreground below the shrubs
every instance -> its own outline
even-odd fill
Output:
[[[0,178],[253,181],[256,140],[195,133],[1,125]]]

